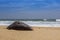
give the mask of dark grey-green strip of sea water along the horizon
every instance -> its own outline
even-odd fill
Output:
[[[56,19],[0,19],[0,21],[56,21]]]

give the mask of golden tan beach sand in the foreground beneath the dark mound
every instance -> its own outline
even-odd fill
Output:
[[[33,28],[33,31],[7,30],[0,26],[0,40],[60,40],[60,28]]]

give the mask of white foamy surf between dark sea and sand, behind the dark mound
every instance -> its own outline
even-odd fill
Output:
[[[0,25],[9,26],[14,21],[0,21]],[[47,22],[47,21],[22,21],[30,26],[35,27],[60,27],[60,22]]]

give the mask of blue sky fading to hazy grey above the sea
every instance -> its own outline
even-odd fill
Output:
[[[60,0],[0,0],[0,19],[60,19]]]

